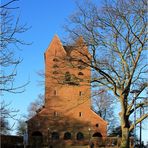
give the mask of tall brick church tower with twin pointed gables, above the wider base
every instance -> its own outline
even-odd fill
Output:
[[[88,51],[83,47],[79,52],[79,42],[63,46],[55,35],[45,52],[45,106],[49,108],[66,111],[80,103],[91,106],[90,68],[81,63],[80,55]],[[82,39],[81,44],[84,44]]]

